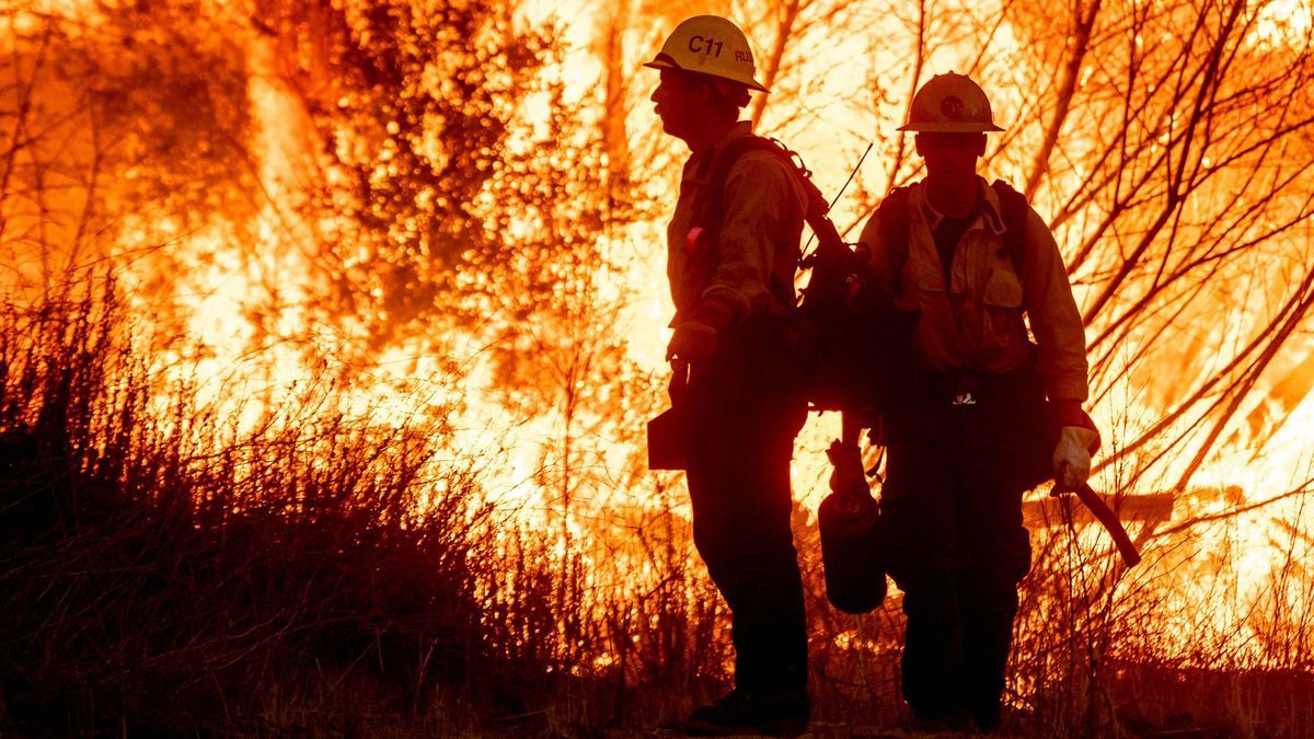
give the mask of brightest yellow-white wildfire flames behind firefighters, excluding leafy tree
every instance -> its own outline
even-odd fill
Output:
[[[307,197],[307,185],[319,172],[317,158],[327,142],[309,121],[306,96],[289,82],[276,42],[261,33],[250,33],[244,41],[251,58],[246,101],[254,126],[248,145],[254,163],[251,191],[260,193],[260,205],[240,224],[233,224],[231,216],[223,212],[206,214],[205,222],[198,226],[171,224],[167,218],[150,221],[150,213],[124,214],[118,222],[118,258],[134,312],[142,317],[156,317],[162,310],[167,313],[160,316],[166,327],[155,354],[162,370],[162,392],[168,381],[193,381],[205,402],[234,417],[237,425],[244,429],[255,427],[275,406],[297,397],[298,387],[314,383],[331,387],[343,409],[373,423],[401,425],[417,418],[443,417],[452,430],[453,448],[465,450],[470,458],[495,456],[503,460],[491,465],[485,479],[494,498],[516,506],[532,521],[544,521],[551,512],[562,513],[574,536],[587,536],[591,530],[589,522],[603,515],[610,501],[658,505],[657,500],[645,498],[653,487],[652,479],[632,473],[635,462],[641,459],[641,450],[636,450],[641,438],[635,435],[635,430],[644,419],[633,409],[652,409],[660,401],[665,370],[662,350],[668,335],[666,321],[671,314],[662,263],[664,214],[674,203],[683,151],[677,142],[660,138],[646,105],[654,80],[640,71],[639,62],[660,42],[661,29],[669,25],[670,18],[653,17],[649,11],[640,12],[635,7],[631,7],[635,17],[622,17],[603,5],[569,8],[528,3],[519,9],[515,24],[523,26],[540,26],[555,18],[569,47],[558,60],[537,72],[545,83],[560,85],[561,99],[544,92],[522,100],[511,121],[516,133],[509,139],[509,146],[520,154],[537,150],[551,155],[545,146],[553,135],[553,105],[562,103],[581,107],[589,116],[586,126],[623,133],[620,141],[607,141],[614,151],[608,150],[602,160],[607,167],[631,167],[629,187],[636,200],[648,201],[652,208],[633,222],[622,224],[599,237],[602,251],[611,255],[618,268],[615,272],[599,268],[591,276],[591,284],[600,302],[620,304],[620,309],[612,325],[597,325],[590,330],[610,331],[608,335],[614,334],[615,341],[623,345],[624,360],[631,368],[627,370],[631,380],[627,392],[643,394],[646,401],[632,402],[623,413],[602,408],[604,404],[600,401],[599,406],[591,408],[547,404],[532,412],[509,404],[494,352],[490,351],[498,338],[486,325],[449,326],[435,321],[444,333],[444,345],[449,347],[445,355],[436,352],[424,337],[406,335],[374,348],[365,367],[347,367],[336,360],[339,347],[359,346],[365,338],[357,335],[359,326],[351,321],[335,326],[317,323],[314,312],[307,308],[311,293],[318,289],[310,276],[321,271],[314,260],[321,246],[317,234],[326,230],[325,222],[317,218],[332,221],[332,216],[307,216],[306,210],[290,205]],[[748,13],[752,17],[746,20],[753,21],[750,28],[761,33],[750,36],[758,39],[758,58],[767,64],[775,49],[770,45],[783,43],[781,34],[787,30],[778,24],[773,33],[773,26],[757,17],[761,9],[754,5],[752,11]],[[844,11],[838,5],[828,11],[829,14],[813,11],[807,16],[809,24],[800,24],[796,38],[790,38],[794,45],[784,54],[788,63],[773,70],[778,75],[773,85],[777,92],[769,99],[769,107],[750,112],[761,114],[759,130],[781,135],[804,154],[817,183],[828,193],[834,193],[845,181],[855,153],[867,141],[876,142],[878,155],[858,174],[854,189],[837,203],[837,222],[848,227],[859,224],[871,212],[886,187],[916,176],[917,162],[909,153],[909,142],[892,129],[903,116],[916,82],[907,62],[907,24],[913,24],[916,30],[918,20],[886,17],[866,8]],[[851,13],[845,18],[867,25],[838,24],[845,12]],[[83,8],[79,4],[51,3],[39,11],[11,14],[8,34],[32,37],[46,28],[45,16],[71,18],[80,13]],[[1247,42],[1248,46],[1240,45],[1242,53],[1251,53],[1257,46],[1279,47],[1296,59],[1293,64],[1303,64],[1302,74],[1309,72],[1311,13],[1307,3],[1261,3],[1244,9],[1244,13],[1248,13],[1252,28],[1248,38],[1252,41]],[[1037,30],[1025,28],[1025,20],[1007,20],[1000,32],[989,37],[993,54],[982,58],[976,43],[979,29],[972,25],[980,22],[979,18],[955,16],[955,28],[962,32],[961,42],[920,49],[922,55],[917,72],[924,80],[932,71],[957,68],[995,82],[996,114],[1014,124],[1001,139],[1000,149],[992,153],[987,167],[1014,180],[1025,178],[1033,153],[1043,146],[1045,124],[1053,114],[1051,109],[1037,113],[1037,101],[1031,99],[1037,88],[1010,84],[1041,78],[1053,62],[1028,54],[1028,39]],[[1037,18],[1030,21],[1039,22]],[[892,43],[874,51],[867,39],[851,28],[871,28],[879,32],[882,39],[903,45]],[[1135,38],[1137,49],[1147,49],[1147,58],[1155,53],[1151,47],[1158,42],[1144,41],[1154,38],[1148,26]],[[1102,72],[1097,67],[1097,60],[1092,59],[1079,64],[1076,89],[1099,84]],[[883,76],[887,70],[897,72],[897,76]],[[608,83],[608,75],[618,76],[619,82],[612,79]],[[1126,95],[1141,92],[1129,91]],[[1144,95],[1141,113],[1148,114],[1147,109],[1162,103],[1148,92]],[[777,99],[782,101],[777,103]],[[1306,104],[1307,100],[1294,103],[1290,114],[1307,124],[1311,110],[1302,108]],[[1177,121],[1172,117],[1164,120]],[[1126,125],[1130,129],[1142,124],[1129,121]],[[1188,124],[1177,121],[1177,125]],[[1293,133],[1282,139],[1281,146],[1286,147],[1282,151],[1290,151],[1286,158],[1309,156],[1309,129],[1294,124],[1292,128],[1306,133]],[[1102,176],[1095,172],[1100,164],[1099,155],[1114,145],[1097,138],[1102,134],[1084,128],[1081,122],[1068,124],[1062,133],[1059,153],[1054,155],[1046,179],[1034,188],[1033,201],[1042,214],[1063,218],[1058,227],[1060,245],[1075,256],[1085,247],[1087,235],[1108,213],[1099,197],[1072,203],[1067,193],[1081,192],[1083,183]],[[1154,146],[1180,146],[1179,134],[1172,129],[1154,135],[1158,137]],[[1126,147],[1127,142],[1122,141],[1118,146]],[[1205,168],[1212,166],[1212,160],[1200,159],[1193,151],[1183,155],[1188,159],[1196,156],[1193,162]],[[622,156],[628,156],[628,160],[619,160]],[[1168,159],[1166,164],[1156,166],[1171,164]],[[380,162],[378,166],[386,168],[389,164]],[[1137,166],[1135,162],[1129,163],[1126,172],[1114,174],[1109,191],[1121,187],[1118,183],[1122,180],[1117,178],[1135,175],[1131,170]],[[1277,179],[1286,176],[1276,168],[1273,172]],[[336,175],[330,172],[326,176]],[[1183,231],[1213,238],[1204,221],[1209,213],[1230,208],[1231,195],[1226,183],[1201,189],[1193,196],[1185,216],[1179,218]],[[1289,191],[1282,191],[1273,197],[1292,196]],[[1147,200],[1152,197],[1147,196]],[[1296,216],[1290,227],[1269,222],[1238,222],[1236,227],[1251,229],[1256,238],[1269,234],[1271,238],[1265,237],[1263,243],[1268,243],[1267,249],[1275,254],[1307,251],[1311,241],[1309,204],[1293,203]],[[1123,206],[1135,209],[1146,205],[1120,205]],[[14,201],[5,204],[4,209],[11,221],[26,213]],[[1275,213],[1275,217],[1282,216],[1277,210]],[[512,242],[531,238],[540,225],[526,214],[511,213],[510,217],[506,237]],[[163,246],[162,234],[167,235]],[[1092,242],[1095,251],[1084,256],[1075,271],[1083,306],[1101,300],[1106,280],[1116,270],[1116,258],[1125,255],[1138,238],[1138,233],[1117,233],[1114,226],[1105,237]],[[237,245],[237,239],[248,241]],[[159,260],[139,258],[145,249],[167,250],[175,275],[162,275]],[[1296,333],[1296,339],[1279,345],[1280,356],[1290,359],[1275,362],[1271,371],[1260,373],[1240,393],[1236,412],[1221,429],[1219,443],[1202,460],[1193,459],[1190,441],[1173,446],[1166,439],[1180,433],[1198,442],[1201,429],[1209,426],[1214,417],[1213,405],[1192,406],[1169,423],[1159,425],[1181,400],[1177,393],[1180,384],[1196,383],[1196,377],[1215,373],[1223,383],[1240,381],[1239,371],[1227,367],[1233,352],[1217,351],[1210,356],[1213,350],[1184,345],[1204,342],[1202,337],[1210,335],[1219,339],[1219,346],[1251,339],[1256,333],[1255,322],[1268,314],[1265,312],[1272,304],[1296,289],[1293,280],[1298,281],[1300,271],[1307,268],[1307,256],[1303,254],[1296,259],[1296,267],[1257,267],[1261,276],[1254,281],[1206,283],[1202,293],[1209,302],[1204,308],[1196,305],[1188,310],[1175,304],[1177,297],[1172,295],[1163,296],[1158,302],[1151,300],[1138,314],[1150,316],[1147,322],[1135,331],[1117,334],[1110,342],[1118,341],[1122,347],[1102,354],[1108,371],[1099,383],[1100,398],[1093,405],[1093,416],[1105,429],[1106,448],[1117,454],[1120,447],[1146,434],[1152,439],[1135,452],[1116,456],[1113,463],[1097,472],[1093,484],[1099,489],[1133,497],[1137,493],[1164,492],[1176,496],[1168,518],[1133,527],[1144,526],[1146,531],[1150,525],[1155,527],[1156,536],[1144,542],[1151,552],[1150,573],[1138,577],[1163,584],[1173,598],[1189,604],[1190,608],[1183,606],[1179,613],[1209,610],[1200,601],[1212,597],[1212,593],[1193,590],[1194,571],[1180,567],[1175,556],[1155,556],[1159,544],[1190,536],[1198,551],[1227,552],[1225,567],[1234,572],[1236,585],[1234,600],[1226,608],[1210,610],[1219,627],[1243,621],[1256,600],[1272,592],[1273,573],[1281,568],[1284,554],[1289,551],[1280,546],[1282,526],[1307,530],[1307,498],[1288,493],[1307,490],[1310,469],[1314,469],[1307,443],[1314,434],[1314,394],[1310,393],[1314,372],[1307,367],[1309,342],[1301,343],[1300,339],[1307,335],[1309,321],[1303,317],[1297,321],[1306,334]],[[1164,260],[1168,259],[1166,252]],[[150,287],[175,276],[173,289],[166,291],[167,300],[162,300],[158,287]],[[1138,267],[1110,300],[1121,305],[1135,298],[1135,295],[1127,293],[1148,293],[1152,287],[1152,271]],[[1116,316],[1101,314],[1092,323],[1092,333],[1109,327],[1114,320]],[[1183,337],[1189,338],[1173,338],[1173,331],[1179,329]],[[1141,341],[1143,346],[1134,346]],[[1181,354],[1175,354],[1177,351]],[[1177,359],[1180,362],[1175,363]],[[1290,372],[1277,376],[1285,370]],[[455,383],[452,377],[460,377],[460,381]],[[572,380],[568,391],[582,392],[589,381],[589,377]],[[1219,397],[1219,402],[1229,401],[1221,388],[1212,393],[1210,397]],[[1247,419],[1254,419],[1251,425],[1257,430],[1251,429]],[[1156,427],[1158,431],[1154,431]],[[572,437],[577,429],[587,431],[582,437]],[[794,487],[798,500],[808,510],[815,510],[825,493],[828,471],[823,450],[836,434],[834,417],[813,417],[796,444]],[[562,451],[566,437],[590,454],[587,462],[579,463],[587,467],[589,476],[586,483],[573,488],[583,492],[570,510],[565,510],[560,480],[572,472],[576,464],[572,455],[578,450]],[[1155,462],[1160,452],[1164,460]],[[1142,463],[1152,467],[1152,475],[1133,475],[1131,468]],[[549,467],[555,473],[544,475]],[[579,472],[579,468],[574,467],[574,471]],[[1131,479],[1134,484],[1125,489]],[[1179,480],[1189,483],[1179,487]],[[662,498],[662,504],[671,502],[670,496]],[[1037,493],[1035,500],[1042,498],[1043,492]],[[1269,498],[1273,500],[1267,505],[1248,508]],[[685,510],[678,496],[674,500],[675,509]],[[1135,515],[1134,510],[1127,513]],[[1172,533],[1179,525],[1210,518],[1223,525]],[[1089,533],[1081,540],[1089,547],[1106,548]],[[1172,547],[1166,546],[1164,551],[1172,551]],[[614,563],[594,564],[602,571]],[[648,565],[640,561],[635,567]],[[620,572],[614,579],[620,583],[625,576]],[[853,640],[845,639],[846,643]],[[1246,632],[1238,632],[1236,639],[1256,650],[1260,647],[1250,642]],[[1187,650],[1188,642],[1184,639],[1176,647]]]

